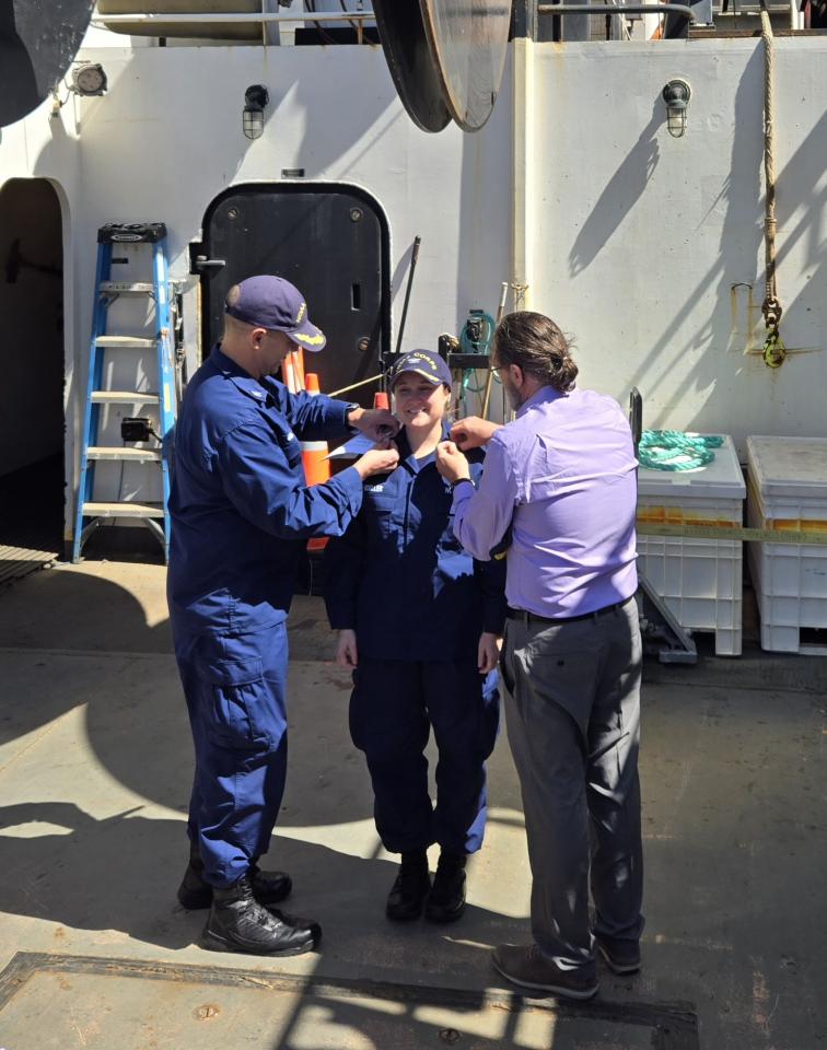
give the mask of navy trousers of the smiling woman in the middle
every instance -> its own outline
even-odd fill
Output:
[[[350,734],[364,751],[374,818],[392,853],[439,842],[474,853],[486,826],[486,759],[499,725],[496,673],[476,660],[400,661],[359,657],[350,698]],[[436,806],[423,751],[431,726],[439,750]]]

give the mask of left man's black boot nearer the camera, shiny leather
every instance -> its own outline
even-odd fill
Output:
[[[259,905],[245,875],[226,889],[213,889],[210,917],[198,943],[210,952],[286,956],[312,952],[321,940],[317,922]]]

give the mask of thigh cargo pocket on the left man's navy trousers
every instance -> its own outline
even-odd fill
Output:
[[[275,743],[278,712],[258,657],[211,660],[198,669],[206,731],[219,747],[260,750]]]

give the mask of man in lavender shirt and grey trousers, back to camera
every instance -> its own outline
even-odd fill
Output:
[[[494,364],[515,420],[463,420],[438,451],[463,547],[482,560],[506,547],[500,670],[534,943],[500,945],[493,964],[522,988],[591,999],[595,947],[615,972],[634,972],[643,929],[637,462],[620,407],[575,387],[578,366],[548,317],[504,317]],[[475,491],[457,445],[485,442]]]

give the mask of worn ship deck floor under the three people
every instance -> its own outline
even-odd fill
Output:
[[[648,664],[643,969],[579,1006],[522,1000],[490,948],[527,940],[504,733],[486,844],[451,926],[392,925],[347,676],[318,598],[291,614],[288,790],[269,860],[321,949],[196,945],[175,889],[191,745],[161,565],[89,561],[0,594],[0,1046],[277,1050],[800,1050],[827,1046],[827,660]]]

